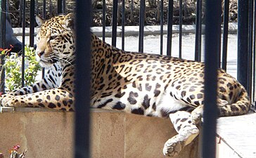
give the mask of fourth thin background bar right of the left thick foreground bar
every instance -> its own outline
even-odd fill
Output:
[[[139,52],[143,52],[145,0],[141,0],[139,9]]]

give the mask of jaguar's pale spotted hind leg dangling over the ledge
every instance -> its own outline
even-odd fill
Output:
[[[179,111],[169,114],[169,117],[178,134],[167,140],[163,148],[163,153],[166,156],[174,157],[198,136],[199,129],[193,124],[189,112]]]

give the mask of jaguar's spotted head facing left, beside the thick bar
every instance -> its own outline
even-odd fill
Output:
[[[68,62],[75,57],[74,15],[58,15],[44,21],[37,16],[37,24],[41,27],[37,34],[36,58],[42,67],[50,67],[53,63]]]

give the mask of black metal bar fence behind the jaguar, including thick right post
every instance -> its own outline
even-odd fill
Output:
[[[99,0],[98,0],[99,1]],[[21,0],[20,3],[20,17],[25,17],[25,6],[26,1]],[[40,14],[43,18],[46,18],[46,8],[49,8],[49,12],[51,13],[53,4],[51,0],[48,1],[49,6],[46,6],[46,0],[43,0],[42,10],[39,12],[39,5],[38,0],[31,0],[30,1],[30,46],[34,46],[34,14]],[[184,0],[174,1],[168,0],[168,8],[167,8],[167,15],[165,14],[163,0],[160,0],[158,3],[159,14],[160,14],[160,54],[163,53],[163,25],[164,25],[164,16],[167,16],[167,55],[172,55],[172,24],[174,21],[174,2],[179,2],[179,58],[182,58],[182,26],[183,26],[183,19],[184,19],[184,4],[186,4]],[[226,61],[227,61],[227,44],[228,44],[228,36],[229,36],[229,0],[223,1],[223,21],[222,21],[222,48],[221,52],[219,53],[218,62],[219,67],[226,70]],[[1,0],[2,4],[2,14],[1,14],[1,32],[5,34],[5,19],[6,19],[6,0]],[[65,0],[57,0],[57,14],[65,13]],[[120,3],[122,3],[120,5]],[[117,23],[122,26],[122,49],[124,49],[124,25],[125,25],[125,13],[127,8],[125,8],[127,1],[113,1],[113,13],[112,13],[112,45],[116,46],[117,43]],[[133,7],[134,2],[131,2]],[[255,100],[255,79],[254,79],[254,70],[255,70],[255,2],[245,1],[245,0],[238,0],[238,80],[248,89],[252,101]],[[121,7],[121,9],[120,9]],[[197,61],[201,61],[202,59],[202,12],[203,11],[203,1],[198,0],[196,3],[196,32],[195,32],[195,50],[194,50],[194,59]],[[133,8],[129,8],[133,11]],[[144,25],[145,25],[145,15],[146,15],[146,3],[145,0],[140,1],[139,7],[139,52],[143,52],[143,39],[144,39]],[[121,10],[121,11],[120,11]],[[106,1],[102,0],[102,9],[94,10],[95,12],[102,12],[102,27],[103,27],[103,40],[105,40],[105,21],[106,21]],[[132,13],[132,12],[131,12]],[[52,14],[48,14],[52,16]],[[120,18],[122,17],[122,18]],[[121,20],[121,22],[120,22]],[[21,18],[21,22],[23,25],[23,32],[25,32],[26,20],[25,18]],[[1,41],[5,41],[5,36],[2,36]],[[23,46],[25,44],[25,34],[23,34]],[[4,46],[4,45],[3,45]],[[193,52],[193,50],[191,50]],[[23,50],[23,58],[24,58],[24,50]],[[1,60],[2,62],[4,60]],[[24,69],[22,69],[24,70]],[[23,73],[24,76],[24,73]],[[1,76],[1,82],[4,82],[4,73]],[[24,85],[24,77],[23,77],[23,85]],[[1,91],[4,92],[4,84],[1,84]]]

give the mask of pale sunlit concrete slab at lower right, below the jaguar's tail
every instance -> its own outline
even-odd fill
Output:
[[[218,158],[256,157],[256,113],[217,121]]]

